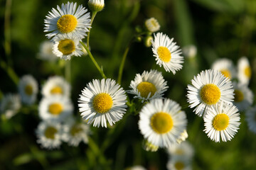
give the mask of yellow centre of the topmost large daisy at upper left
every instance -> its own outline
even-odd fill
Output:
[[[57,28],[60,33],[70,33],[75,30],[75,27],[78,25],[78,20],[75,16],[67,14],[61,16],[57,21]]]

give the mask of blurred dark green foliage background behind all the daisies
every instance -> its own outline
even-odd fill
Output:
[[[13,69],[18,77],[32,74],[41,84],[52,75],[65,75],[59,62],[36,57],[48,11],[67,1],[7,0],[0,1],[1,46],[0,90],[16,93],[15,82],[6,72]],[[87,6],[87,1],[76,1]],[[203,120],[188,108],[186,86],[193,75],[209,69],[218,58],[234,64],[246,56],[252,67],[250,89],[256,91],[256,1],[255,0],[106,0],[97,14],[90,33],[90,48],[107,77],[117,79],[119,63],[136,26],[154,17],[161,32],[173,37],[181,47],[196,45],[196,62],[188,62],[177,74],[165,72],[155,64],[150,47],[134,42],[124,66],[122,87],[129,89],[135,74],[151,68],[163,72],[169,89],[165,96],[183,106],[188,117],[188,141],[195,148],[193,169],[256,169],[256,135],[250,132],[241,113],[238,134],[230,142],[215,143],[203,132]],[[101,79],[89,57],[71,60],[72,99],[78,113],[78,94],[92,79]],[[38,95],[40,101],[41,95]],[[132,96],[129,96],[132,98]],[[255,102],[254,102],[255,103]],[[133,110],[134,111],[134,110]],[[139,111],[139,110],[137,110]],[[130,111],[128,111],[130,112]],[[92,128],[94,142],[79,147],[63,144],[48,151],[36,143],[35,129],[40,122],[36,105],[23,107],[11,120],[0,122],[0,169],[124,169],[142,164],[147,169],[166,169],[164,149],[146,152],[138,130],[138,115],[129,114],[115,128]]]

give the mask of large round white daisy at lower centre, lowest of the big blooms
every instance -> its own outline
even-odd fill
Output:
[[[159,147],[177,143],[186,124],[186,114],[181,111],[181,106],[168,98],[151,100],[139,113],[139,130],[144,139]]]

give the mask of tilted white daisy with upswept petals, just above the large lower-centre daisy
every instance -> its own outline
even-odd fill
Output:
[[[150,70],[150,72],[144,71],[142,75],[136,74],[129,88],[132,89],[127,91],[129,94],[136,95],[134,98],[142,99],[142,102],[144,102],[145,100],[161,98],[168,86],[161,72]]]

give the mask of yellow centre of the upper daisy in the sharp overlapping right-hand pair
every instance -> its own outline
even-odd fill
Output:
[[[206,84],[200,91],[204,103],[212,105],[220,100],[220,89],[215,84]]]

